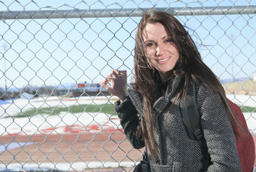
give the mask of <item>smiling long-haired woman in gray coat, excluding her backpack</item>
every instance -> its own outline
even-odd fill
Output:
[[[100,85],[119,97],[115,110],[133,147],[146,146],[141,169],[241,171],[232,129],[236,120],[224,89],[174,16],[163,11],[143,15],[136,32],[134,64],[135,83],[128,95],[125,76],[118,70]],[[189,138],[181,119],[181,98],[191,80],[202,116],[202,144]]]

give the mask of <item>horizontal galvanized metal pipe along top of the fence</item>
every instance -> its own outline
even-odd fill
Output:
[[[62,18],[95,18],[95,17],[128,17],[142,16],[148,8],[136,9],[72,9],[72,10],[37,10],[37,11],[0,11],[0,19],[62,19]],[[223,15],[223,14],[256,14],[256,6],[207,6],[155,8],[174,16]]]

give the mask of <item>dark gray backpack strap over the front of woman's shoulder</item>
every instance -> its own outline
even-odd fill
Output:
[[[181,99],[181,115],[189,138],[201,140],[200,116],[196,105],[196,89],[194,80],[191,80],[186,95]]]

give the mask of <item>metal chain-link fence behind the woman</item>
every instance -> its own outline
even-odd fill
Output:
[[[66,4],[65,4],[66,3]],[[155,6],[189,27],[256,133],[255,1],[0,1],[0,171],[130,171],[113,69],[133,81],[136,27]]]

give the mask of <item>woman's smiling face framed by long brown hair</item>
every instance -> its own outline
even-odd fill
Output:
[[[160,23],[148,23],[143,32],[148,63],[155,67],[163,79],[166,73],[174,69],[179,52],[171,41],[171,35]]]

